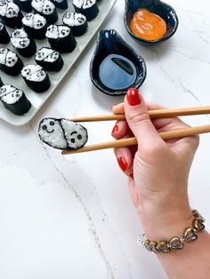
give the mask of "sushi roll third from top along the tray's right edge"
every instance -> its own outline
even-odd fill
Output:
[[[77,42],[71,29],[64,25],[50,25],[46,37],[52,49],[58,52],[73,52]]]

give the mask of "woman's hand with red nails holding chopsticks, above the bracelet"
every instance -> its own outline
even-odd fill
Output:
[[[124,114],[112,131],[115,139],[135,136],[138,147],[117,148],[117,162],[129,177],[129,190],[148,237],[161,239],[182,234],[191,224],[188,199],[190,165],[198,147],[198,137],[164,141],[158,132],[185,128],[178,118],[150,120],[148,109],[136,89],[126,93],[125,102],[112,108]]]

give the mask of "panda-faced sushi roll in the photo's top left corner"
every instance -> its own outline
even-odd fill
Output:
[[[20,28],[22,25],[20,8],[11,0],[0,0],[0,18],[10,28]]]

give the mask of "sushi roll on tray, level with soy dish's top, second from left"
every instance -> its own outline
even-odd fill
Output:
[[[13,47],[24,57],[30,57],[36,52],[36,44],[33,38],[28,36],[23,29],[15,29],[11,34],[11,43]]]

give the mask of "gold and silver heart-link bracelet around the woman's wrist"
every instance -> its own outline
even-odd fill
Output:
[[[192,226],[186,227],[183,233],[183,237],[174,236],[169,241],[150,241],[149,239],[143,240],[139,239],[141,245],[144,245],[148,251],[153,251],[155,253],[164,252],[169,253],[173,250],[181,250],[184,247],[185,242],[195,241],[198,238],[198,232],[202,231],[205,228],[204,222],[205,219],[197,211],[192,211],[193,220]],[[145,234],[143,234],[145,236]]]

